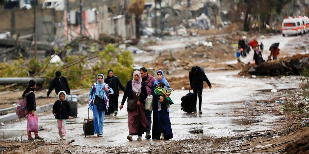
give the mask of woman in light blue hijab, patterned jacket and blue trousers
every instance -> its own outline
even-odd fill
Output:
[[[89,93],[89,108],[93,112],[94,137],[103,136],[104,114],[108,110],[108,95],[114,91],[104,83],[104,75],[97,75],[97,82],[92,84]]]

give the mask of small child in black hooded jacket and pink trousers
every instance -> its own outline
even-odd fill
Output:
[[[71,107],[65,91],[59,91],[58,100],[53,105],[53,114],[57,119],[59,136],[66,140],[66,120],[71,119]]]

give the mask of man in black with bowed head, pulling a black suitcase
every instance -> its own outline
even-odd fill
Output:
[[[194,66],[191,68],[191,71],[189,72],[189,80],[190,80],[190,86],[191,89],[193,89],[194,93],[194,100],[193,100],[193,106],[195,107],[194,113],[196,113],[196,102],[197,102],[197,94],[198,94],[198,112],[202,114],[202,93],[203,93],[203,87],[204,83],[203,81],[206,81],[208,84],[208,87],[211,89],[211,84],[205,75],[204,70],[201,67]]]

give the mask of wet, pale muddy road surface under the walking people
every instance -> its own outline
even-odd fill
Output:
[[[171,99],[175,104],[171,105],[170,118],[174,138],[172,140],[198,139],[203,136],[219,138],[222,136],[234,136],[250,134],[252,132],[271,131],[282,126],[280,119],[283,116],[273,115],[272,112],[263,113],[252,106],[259,100],[271,97],[270,90],[298,88],[295,77],[248,79],[237,76],[239,71],[225,71],[207,73],[208,78],[215,86],[212,89],[204,89],[202,99],[203,114],[187,114],[180,110],[180,99],[188,91],[173,91]],[[119,96],[119,102],[122,99]],[[127,125],[127,111],[118,112],[116,117],[106,116],[104,120],[103,137],[94,138],[83,135],[83,120],[88,117],[87,105],[78,107],[78,117],[67,121],[67,140],[75,139],[72,144],[82,146],[130,146],[136,145],[129,142],[126,136],[129,134]],[[90,116],[92,112],[90,111]],[[44,130],[39,131],[40,136],[46,141],[60,140],[57,130],[57,122],[52,113],[40,113],[39,126]],[[27,139],[27,120],[5,124],[0,127],[1,138]],[[160,142],[157,140],[143,140],[139,144]]]

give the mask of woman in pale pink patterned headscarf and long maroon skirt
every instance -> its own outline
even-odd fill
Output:
[[[127,98],[128,101],[134,100],[134,105],[136,105],[134,111],[128,110],[129,135],[127,136],[127,139],[129,141],[133,140],[133,135],[138,136],[137,140],[142,140],[142,134],[144,134],[147,127],[149,127],[144,111],[144,104],[147,96],[147,90],[145,83],[142,82],[141,73],[139,71],[134,71],[133,80],[129,80],[127,86],[125,86],[125,93],[119,107],[121,110]]]

